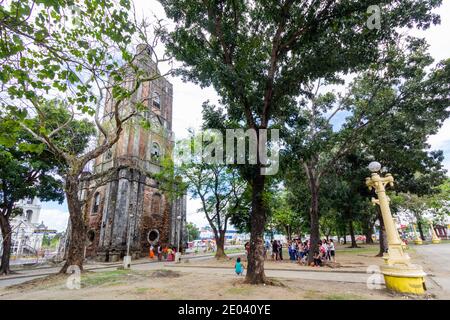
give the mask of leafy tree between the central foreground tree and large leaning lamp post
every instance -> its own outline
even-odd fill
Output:
[[[449,115],[450,61],[427,72],[433,59],[426,50],[426,43],[414,38],[384,45],[378,63],[358,75],[340,97],[326,91],[327,84],[339,82],[337,78],[306,86],[284,136],[290,161],[298,161],[299,174],[305,172],[308,178],[312,243],[319,236],[321,180],[333,174],[343,157],[357,150],[393,169],[398,164],[409,170],[403,181],[418,170],[427,171],[427,162],[433,162],[434,155],[424,150],[427,137]],[[332,120],[339,112],[347,116],[336,130]]]

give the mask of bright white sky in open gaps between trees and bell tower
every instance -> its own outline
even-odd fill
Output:
[[[165,18],[164,10],[155,0],[134,0],[137,16]],[[430,45],[430,54],[436,61],[450,57],[450,0],[436,10],[441,16],[441,24],[425,31],[411,30],[414,36],[424,37]],[[198,128],[201,124],[201,106],[206,100],[217,103],[218,96],[213,88],[200,88],[193,83],[185,83],[180,78],[169,77],[173,84],[173,131],[175,137],[187,135],[188,128]],[[444,151],[444,166],[450,172],[450,119],[447,119],[436,135],[430,136],[428,142],[432,150]],[[190,199],[187,202],[187,220],[198,227],[208,224],[202,213],[197,213],[200,202]],[[68,221],[67,204],[42,202],[40,220],[50,229],[64,231]]]

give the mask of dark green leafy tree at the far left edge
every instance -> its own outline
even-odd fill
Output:
[[[21,214],[16,203],[21,199],[39,197],[43,201],[64,200],[63,183],[58,178],[59,163],[45,148],[36,148],[36,141],[25,130],[0,116],[0,228],[2,257],[0,275],[10,272],[10,219]]]

